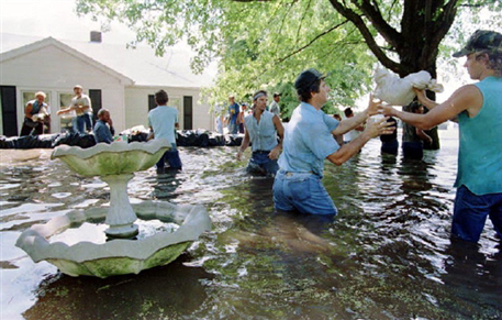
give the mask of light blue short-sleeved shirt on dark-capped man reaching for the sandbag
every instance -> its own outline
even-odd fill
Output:
[[[324,159],[339,148],[331,131],[338,121],[322,110],[302,102],[285,128],[279,166],[287,172],[312,172],[323,175]]]

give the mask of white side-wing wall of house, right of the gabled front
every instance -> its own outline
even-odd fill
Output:
[[[126,128],[143,124],[148,128],[148,96],[164,89],[168,97],[168,106],[177,107],[179,112],[179,128],[183,129],[183,97],[192,97],[192,126],[193,129],[214,130],[214,121],[210,114],[210,106],[200,101],[200,90],[175,87],[126,87],[125,88],[125,124]]]

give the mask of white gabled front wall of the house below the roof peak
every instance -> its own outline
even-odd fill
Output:
[[[18,128],[24,120],[23,91],[45,91],[51,93],[52,132],[59,131],[59,93],[72,93],[75,85],[81,85],[83,91],[100,89],[102,107],[113,114],[113,124],[118,131],[124,130],[124,85],[119,77],[105,73],[85,60],[56,47],[45,46],[37,51],[20,55],[0,64],[0,85],[15,86],[18,96]]]

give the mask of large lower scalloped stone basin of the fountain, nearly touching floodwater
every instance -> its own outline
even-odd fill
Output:
[[[175,222],[175,232],[160,232],[141,240],[116,239],[103,244],[79,242],[67,245],[51,243],[48,239],[71,225],[105,218],[108,208],[72,210],[45,224],[25,230],[15,245],[34,262],[47,261],[70,276],[109,276],[138,274],[143,269],[166,265],[176,260],[203,232],[211,230],[211,220],[200,205],[172,205],[164,201],[143,201],[133,205],[137,217]]]

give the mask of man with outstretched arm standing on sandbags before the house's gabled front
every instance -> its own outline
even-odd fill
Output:
[[[92,103],[91,99],[83,95],[83,88],[80,85],[74,87],[75,97],[71,99],[70,106],[57,111],[57,115],[75,111],[77,117],[71,119],[71,125],[75,132],[86,133],[92,130]]]

